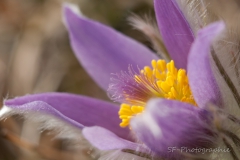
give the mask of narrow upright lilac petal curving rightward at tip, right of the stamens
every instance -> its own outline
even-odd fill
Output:
[[[213,23],[198,32],[188,59],[189,84],[199,107],[221,105],[221,94],[210,64],[211,43],[223,31],[223,22]]]

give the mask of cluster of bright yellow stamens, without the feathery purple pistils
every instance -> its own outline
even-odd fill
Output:
[[[186,71],[177,69],[174,61],[166,63],[165,60],[152,60],[152,68],[144,67],[141,73],[134,76],[136,83],[144,86],[145,98],[126,99],[129,104],[122,104],[119,110],[119,118],[122,120],[121,127],[129,125],[133,116],[144,111],[145,104],[151,98],[166,98],[190,103],[194,106],[196,102],[193,98]],[[128,97],[128,96],[126,96]],[[137,104],[141,104],[140,106]]]

